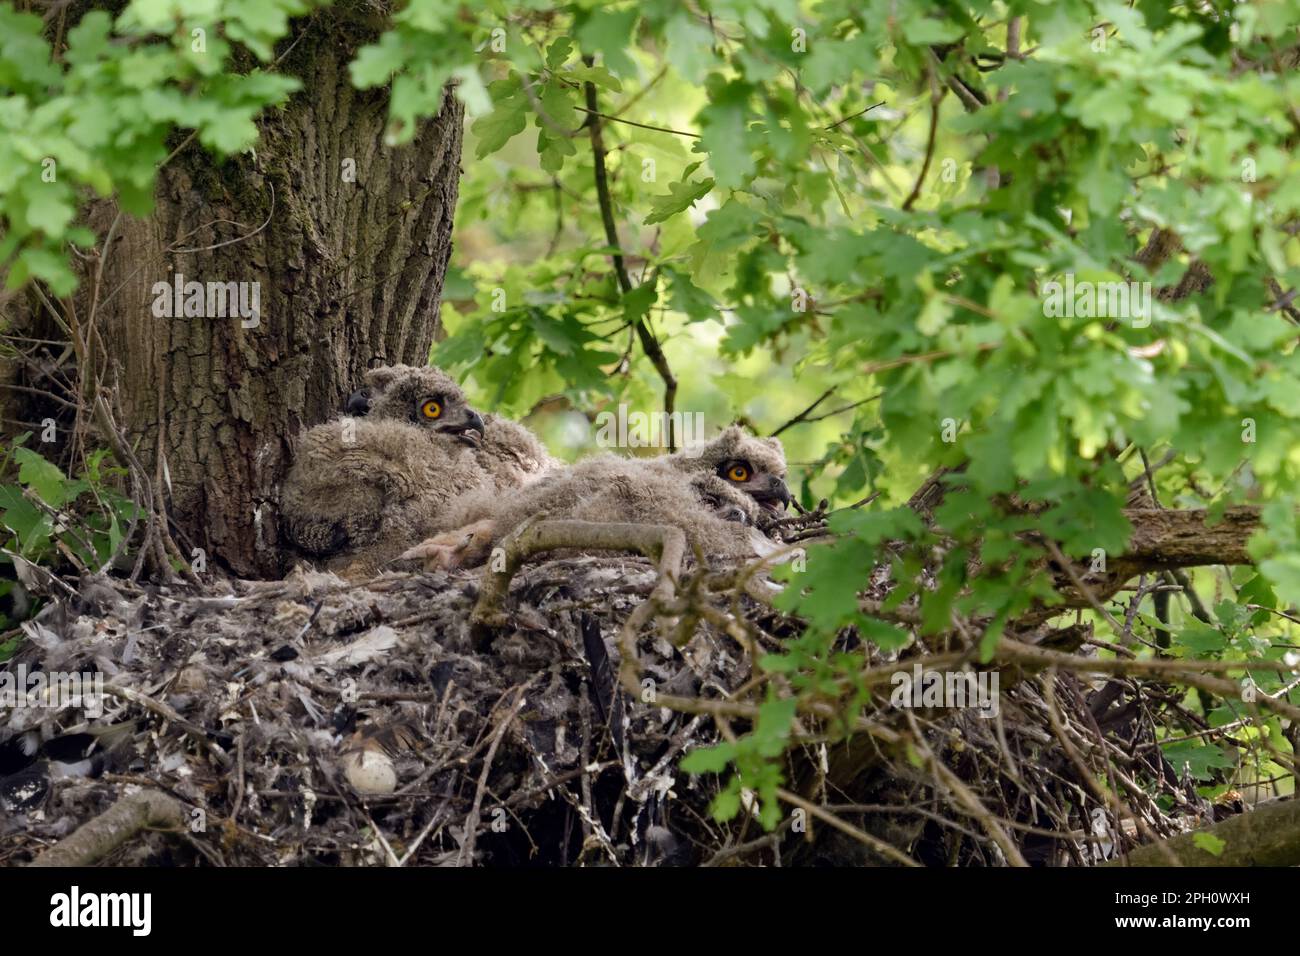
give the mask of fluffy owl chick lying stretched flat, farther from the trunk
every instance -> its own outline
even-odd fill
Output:
[[[403,557],[434,567],[477,564],[521,522],[545,515],[668,524],[705,554],[749,558],[774,549],[754,525],[789,503],[784,476],[780,444],[740,428],[663,458],[597,455],[507,496],[467,494],[447,510],[450,531]]]

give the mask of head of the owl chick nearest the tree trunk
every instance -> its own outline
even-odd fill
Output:
[[[477,445],[484,420],[469,407],[465,393],[441,368],[426,365],[380,365],[365,373],[365,388],[347,399],[350,415],[395,419],[451,434]]]

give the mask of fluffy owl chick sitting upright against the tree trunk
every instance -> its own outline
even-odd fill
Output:
[[[526,428],[481,416],[437,368],[385,365],[344,418],[308,429],[285,479],[289,541],[330,570],[370,574],[476,488],[519,488],[551,464]]]

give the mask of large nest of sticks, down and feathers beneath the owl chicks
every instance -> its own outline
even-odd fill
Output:
[[[1240,809],[1157,745],[1184,688],[994,662],[996,719],[888,691],[849,736],[833,708],[801,713],[792,813],[720,823],[720,778],[679,758],[753,724],[779,680],[755,657],[801,632],[750,571],[692,564],[666,609],[650,558],[525,563],[486,633],[469,572],[86,579],[9,670],[100,674],[104,709],[0,711],[0,864],[1087,865]],[[870,579],[878,602],[888,575]],[[1084,631],[1053,633],[1072,650]],[[980,667],[972,648],[841,649],[878,685],[914,661]],[[109,839],[94,821],[114,806]]]

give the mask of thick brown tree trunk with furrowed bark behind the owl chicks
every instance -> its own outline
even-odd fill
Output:
[[[261,118],[255,152],[218,161],[191,142],[162,168],[152,216],[113,229],[114,207],[88,212],[113,238],[101,343],[81,372],[104,373],[136,457],[165,475],[182,551],[239,575],[285,570],[276,499],[299,431],[335,414],[369,364],[428,359],[460,174],[450,90],[411,144],[386,147],[387,92],[347,73],[373,35],[328,13],[296,33],[277,69],[303,88]],[[257,324],[212,303],[159,317],[155,285],[176,276],[259,284]],[[94,285],[88,268],[78,316]]]

